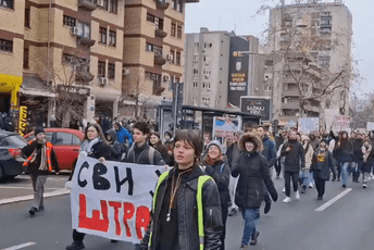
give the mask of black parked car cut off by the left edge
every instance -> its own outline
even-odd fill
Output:
[[[22,148],[27,141],[14,132],[0,130],[0,179],[13,179],[22,174]]]

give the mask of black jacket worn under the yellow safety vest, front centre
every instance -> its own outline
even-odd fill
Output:
[[[152,227],[152,246],[151,250],[155,249],[158,233],[160,230],[160,210],[167,209],[163,205],[166,186],[170,185],[174,175],[175,168],[171,170],[169,177],[162,182],[158,191],[157,208],[151,216],[151,223],[148,230],[142,238],[140,245],[136,245],[136,250],[147,250],[150,238],[150,227]],[[197,186],[198,177],[205,175],[199,167],[194,166],[189,174],[187,182],[183,182],[177,192],[177,223],[178,223],[178,246],[175,250],[199,250],[199,232],[198,232],[198,211],[197,211]],[[204,250],[221,249],[220,236],[222,234],[222,215],[221,204],[219,199],[219,189],[213,180],[208,180],[202,187],[203,198],[203,224],[204,224]],[[169,204],[169,202],[167,202]],[[165,208],[166,207],[166,208]],[[173,239],[170,239],[173,240]]]

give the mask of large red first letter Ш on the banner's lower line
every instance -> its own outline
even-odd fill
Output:
[[[92,217],[87,217],[87,201],[84,193],[79,195],[79,227],[92,230],[100,230],[108,233],[109,230],[109,217],[108,217],[108,204],[107,201],[100,200],[101,214],[103,218],[100,218],[100,211],[92,210]]]

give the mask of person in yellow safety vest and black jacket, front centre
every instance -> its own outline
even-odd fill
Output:
[[[217,186],[200,167],[203,143],[195,130],[174,139],[176,166],[163,173],[153,196],[151,222],[136,250],[221,248],[222,214]]]

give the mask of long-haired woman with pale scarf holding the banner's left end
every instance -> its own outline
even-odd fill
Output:
[[[89,124],[85,129],[85,140],[80,146],[80,154],[98,159],[100,162],[111,159],[112,150],[103,135],[99,124]],[[73,170],[74,173],[74,170]],[[73,176],[72,173],[72,176]],[[73,229],[73,242],[66,247],[67,250],[84,249],[84,233]]]

